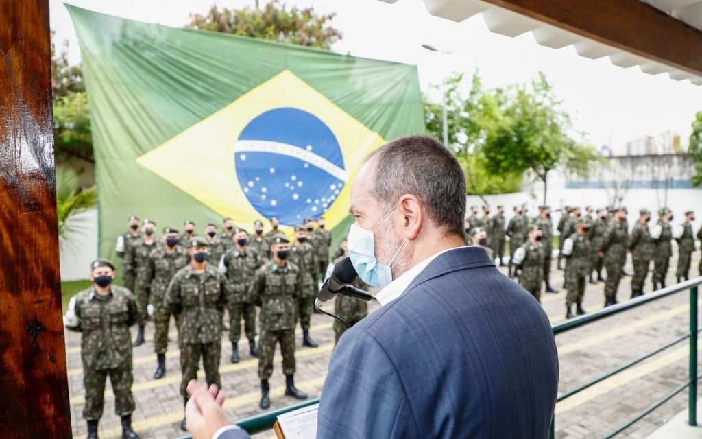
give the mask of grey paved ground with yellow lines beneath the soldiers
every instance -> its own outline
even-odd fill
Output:
[[[691,273],[697,274],[699,252],[694,254]],[[675,261],[668,272],[668,285],[675,282]],[[631,267],[626,268],[631,273]],[[506,268],[504,269],[506,272]],[[618,299],[630,296],[630,277],[620,284]],[[552,284],[560,288],[563,272],[552,272]],[[588,284],[584,306],[586,310],[602,308],[604,284]],[[646,284],[646,292],[651,284]],[[543,307],[552,322],[564,318],[564,291],[545,294]],[[326,306],[331,308],[331,305]],[[583,384],[609,369],[618,367],[658,345],[684,334],[688,328],[689,294],[682,292],[654,304],[642,306],[606,320],[557,336],[560,358],[559,391]],[[319,396],[326,367],[333,347],[331,317],[312,316],[312,336],[319,348],[298,348],[296,353],[298,372],[296,384],[310,397]],[[133,414],[133,426],[142,438],[178,438],[183,433],[178,429],[183,419],[183,402],[178,395],[180,369],[178,348],[175,343],[175,328],[171,327],[168,345],[167,372],[160,380],[152,379],[156,367],[153,346],[150,343],[152,325],[147,326],[147,343],[134,350],[134,398],[137,409]],[[135,328],[133,329],[135,333]],[[298,346],[301,344],[298,330]],[[75,438],[84,438],[86,425],[81,416],[84,405],[83,375],[80,360],[80,334],[66,333],[69,367],[71,418]],[[573,398],[560,402],[556,407],[556,437],[578,439],[603,437],[637,412],[661,398],[687,377],[688,347],[686,342],[673,346],[656,357],[640,363],[621,374],[612,376],[592,386]],[[248,349],[243,350],[241,362],[229,362],[231,346],[223,339],[220,372],[227,395],[226,408],[232,419],[241,419],[261,412],[258,409],[260,388],[256,369],[258,360],[250,358]],[[271,379],[272,408],[291,405],[295,400],[283,396],[284,376],[280,369],[280,358],[275,360]],[[119,418],[114,414],[114,396],[107,386],[105,414],[100,421],[100,438],[118,438],[121,435]],[[661,408],[626,431],[618,438],[645,438],[687,407],[687,392],[677,395]],[[274,437],[272,433],[258,437]],[[702,429],[701,435],[702,438]]]

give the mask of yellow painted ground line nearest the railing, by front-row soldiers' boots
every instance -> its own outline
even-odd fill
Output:
[[[310,391],[310,389],[315,388],[317,386],[320,386],[324,384],[324,379],[326,376],[320,376],[319,378],[311,379],[310,381],[304,381],[302,383],[299,383],[296,387],[300,388],[301,390],[305,391]],[[226,391],[226,389],[225,389]],[[278,398],[280,396],[283,396],[285,394],[285,386],[279,386],[279,387],[274,387],[270,389],[270,396],[271,398]],[[224,408],[225,409],[233,409],[236,407],[241,407],[244,405],[253,405],[257,404],[258,401],[260,400],[261,394],[260,392],[251,392],[251,393],[246,393],[244,395],[237,396],[235,398],[227,398],[224,403]],[[291,399],[292,401],[292,399]],[[171,412],[167,414],[162,414],[161,416],[157,417],[152,417],[152,418],[147,418],[147,419],[141,419],[140,421],[133,421],[132,422],[132,427],[134,428],[135,431],[147,431],[150,430],[151,428],[156,428],[165,424],[175,424],[176,422],[180,423],[180,421],[183,420],[183,409],[179,409],[176,412]],[[122,434],[122,428],[121,426],[115,427],[115,428],[107,428],[106,430],[100,430],[99,435],[100,438],[104,439],[109,439],[109,438],[119,438],[121,437]],[[185,435],[186,433],[183,433]],[[86,435],[76,435],[74,436],[75,439],[84,439]]]

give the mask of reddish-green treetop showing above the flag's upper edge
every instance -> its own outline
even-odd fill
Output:
[[[334,15],[295,6],[288,11],[279,0],[260,6],[257,0],[253,9],[219,9],[213,4],[207,15],[191,14],[186,27],[329,49],[342,38],[330,25]]]

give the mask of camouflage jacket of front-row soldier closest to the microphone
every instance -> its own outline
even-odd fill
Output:
[[[279,267],[268,261],[256,270],[249,296],[260,306],[261,330],[277,331],[295,328],[296,301],[303,289],[303,273],[294,263]]]

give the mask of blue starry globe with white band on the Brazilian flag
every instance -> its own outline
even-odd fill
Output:
[[[234,168],[253,208],[284,225],[322,216],[346,181],[329,126],[293,107],[263,112],[244,127],[234,145]]]

